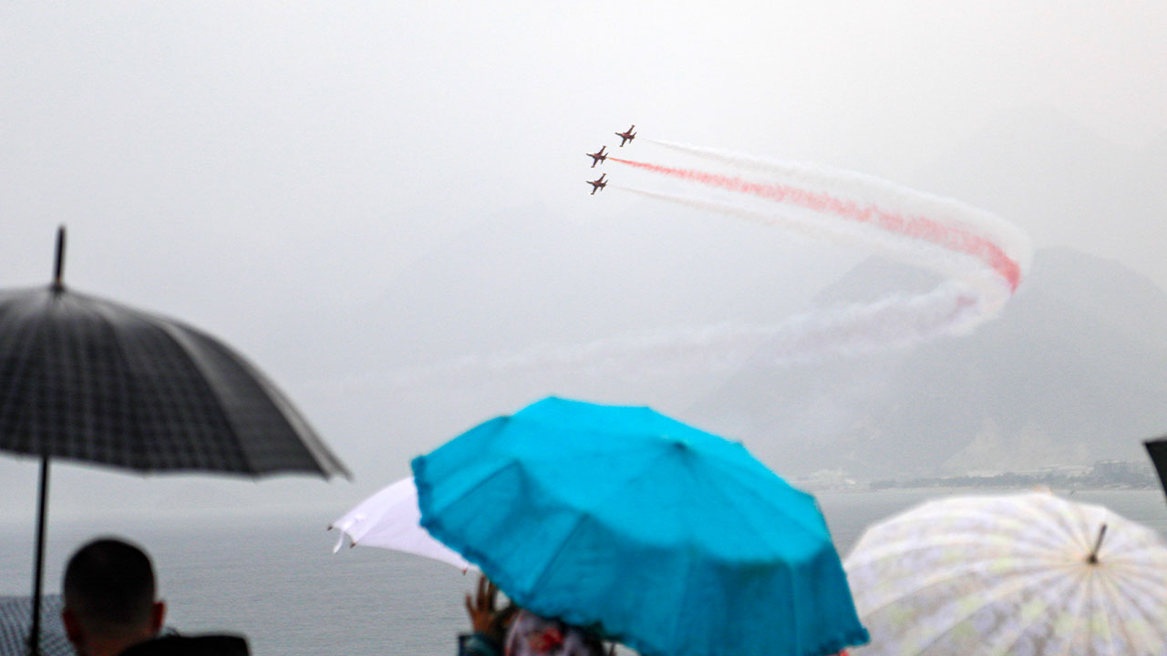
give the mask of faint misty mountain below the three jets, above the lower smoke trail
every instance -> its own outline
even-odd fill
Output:
[[[380,294],[313,317],[307,335],[295,339],[327,354],[306,365],[317,375],[587,343],[726,317],[774,322],[817,292],[776,274],[785,271],[776,261],[803,261],[806,279],[815,280],[845,271],[853,258],[766,226],[711,221],[661,203],[600,207],[586,222],[522,207],[419,253],[386,279]]]

